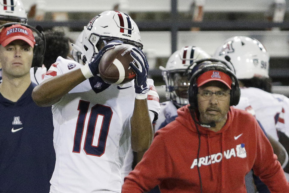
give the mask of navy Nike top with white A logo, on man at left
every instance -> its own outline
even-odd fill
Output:
[[[17,102],[0,94],[0,193],[49,192],[55,165],[51,107],[39,107],[31,83]]]

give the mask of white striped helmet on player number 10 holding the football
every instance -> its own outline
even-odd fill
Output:
[[[112,40],[121,40],[140,49],[141,36],[132,18],[120,11],[104,11],[94,17],[86,27],[82,37],[82,60],[92,61],[102,46]]]

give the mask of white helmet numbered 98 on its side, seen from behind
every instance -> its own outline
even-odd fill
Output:
[[[269,54],[254,38],[231,37],[216,50],[215,57],[230,62],[238,79],[269,77]]]

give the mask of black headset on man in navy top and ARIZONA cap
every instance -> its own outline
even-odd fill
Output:
[[[10,27],[11,25],[16,25],[16,24],[25,26],[37,34],[37,36],[35,37],[35,34],[33,33],[36,44],[34,45],[34,49],[33,49],[33,60],[32,60],[32,66],[31,66],[31,67],[36,67],[34,68],[34,71],[36,71],[37,67],[42,67],[43,59],[44,59],[46,40],[45,40],[45,35],[43,33],[43,28],[41,26],[37,26],[36,27],[38,29],[37,30],[36,28],[30,25],[13,22],[13,23],[7,23],[7,24],[1,25],[0,29],[2,29],[3,27]]]

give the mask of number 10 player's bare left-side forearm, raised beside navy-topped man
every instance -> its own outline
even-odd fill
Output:
[[[85,79],[80,69],[51,77],[33,89],[32,99],[38,106],[51,106]]]

